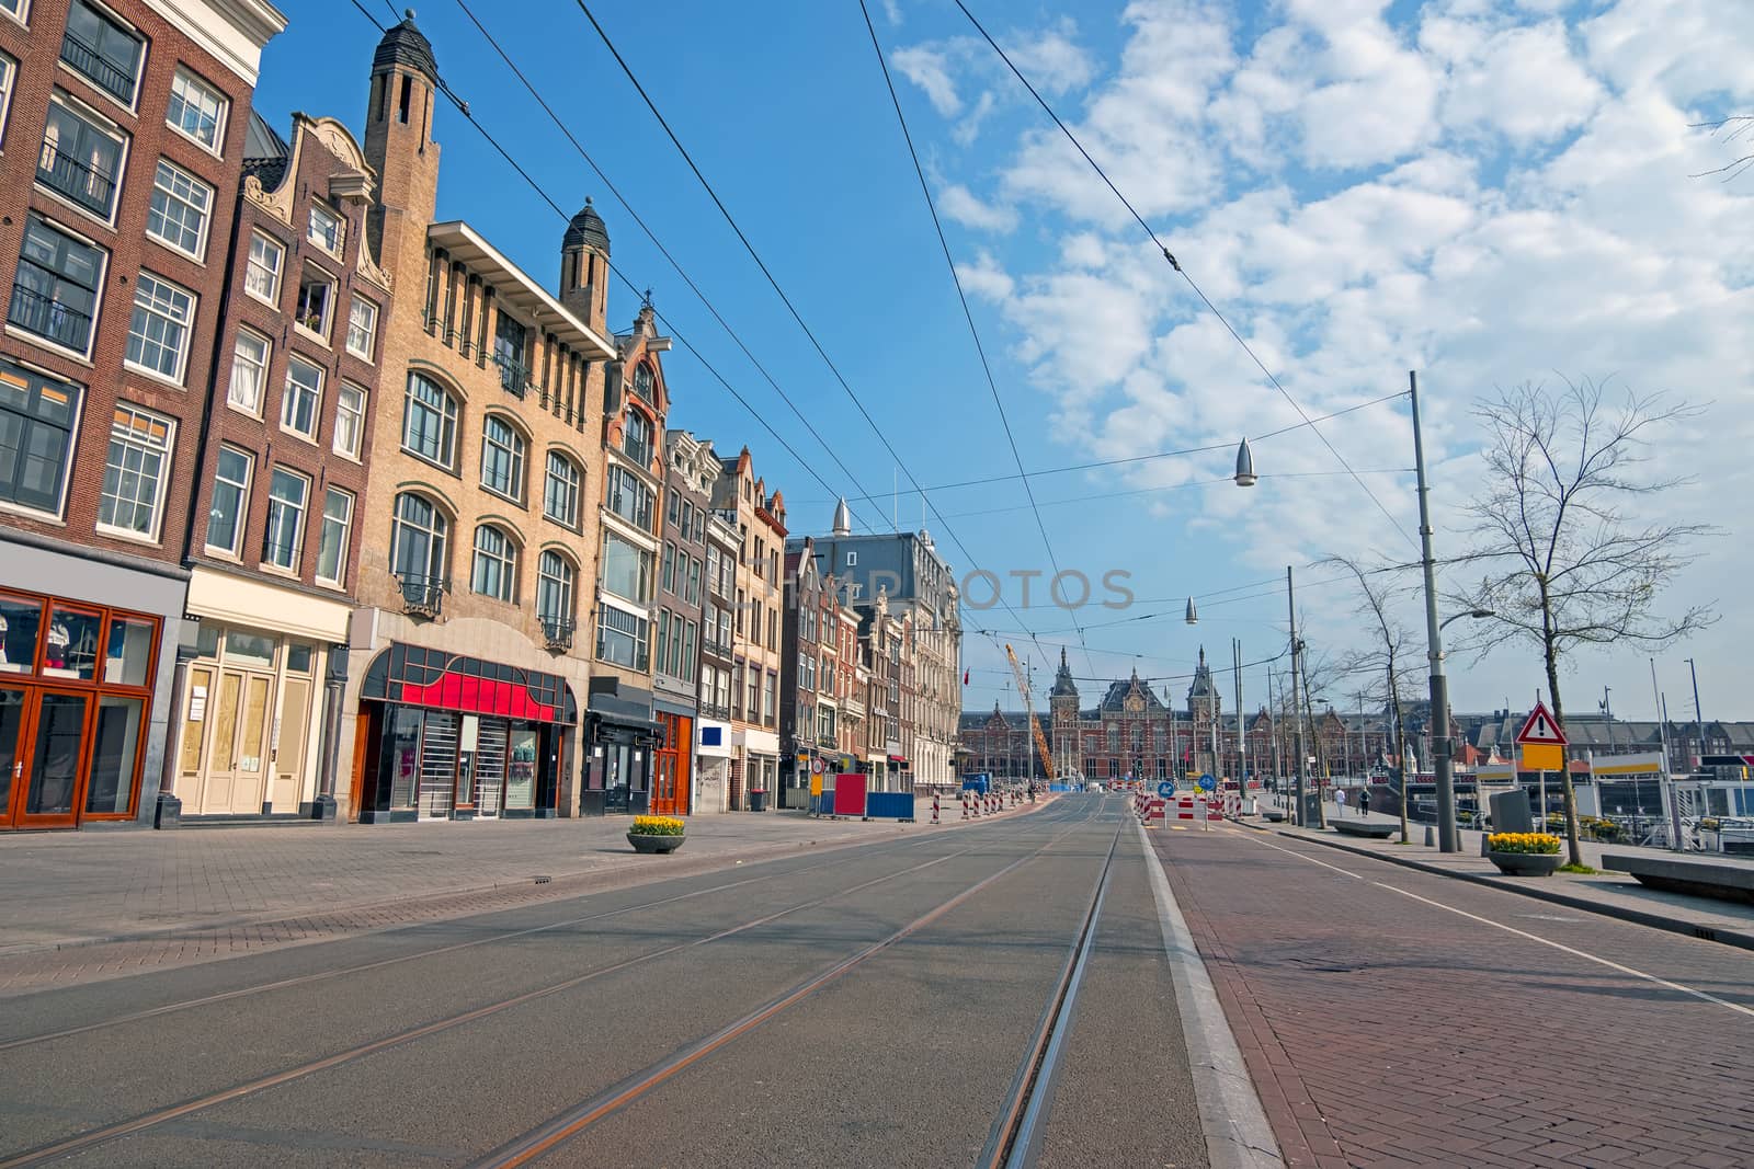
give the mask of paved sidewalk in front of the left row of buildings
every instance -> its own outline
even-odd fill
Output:
[[[0,997],[979,822],[691,817],[665,857],[624,817],[4,834]]]

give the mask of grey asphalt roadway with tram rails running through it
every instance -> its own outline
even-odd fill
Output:
[[[16,997],[0,1167],[977,1164],[1098,890],[1037,1164],[1203,1165],[1149,864],[1066,797]]]

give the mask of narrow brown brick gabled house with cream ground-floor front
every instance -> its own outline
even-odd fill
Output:
[[[333,815],[354,522],[372,457],[389,277],[375,174],[346,126],[251,114],[188,540],[179,662],[184,817]]]

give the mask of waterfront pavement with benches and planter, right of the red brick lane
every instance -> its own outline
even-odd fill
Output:
[[[1326,811],[1331,825],[1335,820],[1333,804],[1328,804]],[[1344,818],[1358,822],[1361,817],[1356,808],[1347,808]],[[1372,811],[1368,820],[1372,824],[1400,824],[1400,817],[1379,811]],[[1308,840],[1328,848],[1379,857],[1394,864],[1405,864],[1538,897],[1573,910],[1589,910],[1593,913],[1603,913],[1658,929],[1670,929],[1694,938],[1754,950],[1754,904],[1645,889],[1633,876],[1612,871],[1598,871],[1594,875],[1554,873],[1552,876],[1505,876],[1491,861],[1480,855],[1482,832],[1458,832],[1461,850],[1445,854],[1424,843],[1422,824],[1408,825],[1410,840],[1405,845],[1400,843],[1400,836],[1391,840],[1368,840],[1359,836],[1340,836],[1331,827],[1272,827],[1280,836]],[[1582,852],[1584,861],[1591,868],[1598,868],[1601,864],[1603,852],[1663,859],[1708,859],[1715,864],[1754,868],[1754,861],[1742,857],[1675,854],[1663,848],[1643,848],[1638,845],[1603,845],[1584,841]]]

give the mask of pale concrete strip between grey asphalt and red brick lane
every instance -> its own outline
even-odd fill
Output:
[[[1175,983],[1175,1010],[1182,1018],[1182,1039],[1187,1045],[1187,1071],[1194,1081],[1194,1104],[1200,1109],[1200,1130],[1207,1143],[1207,1160],[1212,1169],[1266,1169],[1282,1167],[1284,1157],[1273,1127],[1261,1108],[1249,1067],[1237,1048],[1230,1020],[1212,988],[1194,938],[1163,861],[1152,848],[1145,827],[1135,820],[1133,831],[1145,850],[1145,868],[1151,873],[1151,894],[1158,903],[1158,922],[1163,927],[1163,953],[1170,962]]]

